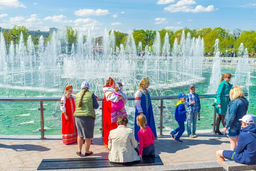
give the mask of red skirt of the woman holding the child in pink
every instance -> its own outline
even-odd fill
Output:
[[[111,123],[111,101],[107,101],[104,96],[103,105],[103,129],[104,129],[104,145],[108,147],[109,132],[117,128],[116,123]]]

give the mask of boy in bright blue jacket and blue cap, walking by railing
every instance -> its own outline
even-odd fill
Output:
[[[177,121],[179,127],[177,127],[175,130],[171,131],[170,134],[172,138],[174,138],[174,135],[177,134],[175,137],[174,141],[177,143],[183,143],[182,140],[180,140],[181,135],[185,131],[185,121],[186,121],[186,109],[184,102],[186,101],[186,95],[184,93],[180,93],[178,95],[179,101],[176,104],[176,109],[175,109],[175,120]]]

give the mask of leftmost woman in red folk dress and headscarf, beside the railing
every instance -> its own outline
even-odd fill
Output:
[[[73,116],[76,110],[76,103],[72,92],[73,86],[67,85],[65,95],[61,98],[62,140],[64,144],[77,142],[77,129]]]

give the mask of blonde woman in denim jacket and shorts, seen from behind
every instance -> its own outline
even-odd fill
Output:
[[[241,129],[242,118],[247,113],[249,102],[244,98],[244,92],[241,87],[236,86],[230,90],[230,104],[227,107],[225,116],[226,125],[223,132],[227,131],[227,136],[230,140],[230,149],[234,150],[238,143],[238,137]]]

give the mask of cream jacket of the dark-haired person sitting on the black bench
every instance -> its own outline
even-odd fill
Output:
[[[134,148],[137,147],[134,132],[124,125],[119,125],[109,132],[108,136],[108,159],[110,162],[124,163],[140,160]]]

